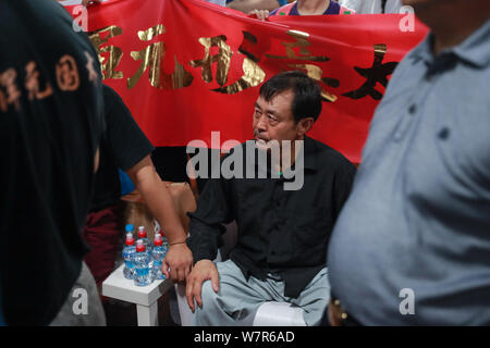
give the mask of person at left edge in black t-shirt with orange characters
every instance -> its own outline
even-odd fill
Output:
[[[103,325],[81,238],[103,132],[97,54],[54,1],[0,0],[0,33],[4,320]]]

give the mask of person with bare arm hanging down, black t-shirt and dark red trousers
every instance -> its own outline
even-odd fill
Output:
[[[106,85],[103,100],[107,130],[100,145],[96,190],[83,233],[85,241],[91,248],[85,261],[98,285],[113,270],[121,236],[120,167],[128,174],[169,239],[170,248],[163,270],[166,275],[175,282],[184,282],[191,271],[193,257],[185,244],[187,234],[169,189],[151,162],[154,146],[138,127],[121,97]]]

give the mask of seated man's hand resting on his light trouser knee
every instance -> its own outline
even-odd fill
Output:
[[[194,298],[199,307],[203,307],[203,299],[200,297],[200,289],[205,281],[211,279],[212,289],[215,293],[220,290],[220,281],[218,270],[210,260],[200,260],[195,265],[187,277],[185,285],[185,296],[187,297],[187,304],[191,310],[195,311]]]

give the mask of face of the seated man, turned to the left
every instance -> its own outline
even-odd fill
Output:
[[[282,91],[270,101],[261,96],[255,102],[254,111],[254,137],[258,148],[269,149],[270,140],[297,140],[302,138],[298,125],[294,122],[291,105],[294,94],[291,90]]]

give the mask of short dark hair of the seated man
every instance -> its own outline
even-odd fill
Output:
[[[270,101],[286,90],[292,90],[294,94],[291,104],[294,122],[298,123],[306,117],[317,121],[321,113],[320,85],[301,71],[283,72],[271,77],[260,87],[260,97]]]

